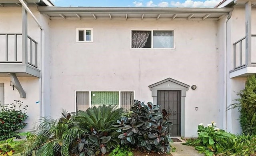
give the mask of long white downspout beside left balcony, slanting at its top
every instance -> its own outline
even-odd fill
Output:
[[[44,109],[43,109],[43,99],[44,99],[44,29],[42,28],[41,24],[37,20],[36,16],[32,13],[32,11],[28,8],[26,3],[23,0],[19,0],[22,6],[26,9],[26,11],[32,16],[32,18],[35,20],[35,22],[38,24],[41,34],[40,34],[40,40],[41,40],[41,78],[40,78],[40,117],[44,116]]]

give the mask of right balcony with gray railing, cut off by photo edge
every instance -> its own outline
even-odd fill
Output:
[[[256,34],[252,35],[252,50],[246,54],[245,37],[233,44],[233,70],[230,71],[230,78],[247,77],[256,73]]]

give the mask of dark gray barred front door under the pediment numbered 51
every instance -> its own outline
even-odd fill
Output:
[[[160,109],[165,109],[168,116],[170,125],[171,136],[180,136],[181,128],[181,91],[180,90],[157,90],[157,104],[160,105]]]

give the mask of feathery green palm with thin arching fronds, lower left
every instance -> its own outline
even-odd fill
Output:
[[[70,113],[64,112],[62,116],[57,120],[42,118],[20,146],[20,155],[70,156],[70,148],[76,138],[88,134],[88,131],[82,129]]]

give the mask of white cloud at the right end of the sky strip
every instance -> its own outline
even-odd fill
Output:
[[[186,0],[184,3],[172,1],[171,6],[186,7],[186,8],[211,8],[219,4],[221,1],[222,0],[206,0],[204,2],[201,2],[201,1]]]

